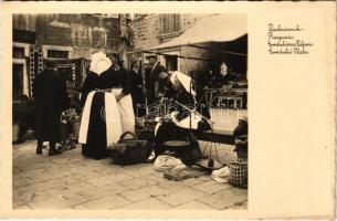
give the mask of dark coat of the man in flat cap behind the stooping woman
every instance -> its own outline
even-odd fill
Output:
[[[146,72],[146,87],[147,87],[149,104],[154,104],[156,102],[157,92],[155,85],[161,72],[166,72],[166,69],[159,62],[156,64],[154,69]]]

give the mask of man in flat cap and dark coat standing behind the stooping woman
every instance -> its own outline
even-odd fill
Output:
[[[158,97],[159,75],[165,73],[166,69],[160,64],[156,54],[150,54],[146,56],[146,59],[149,61],[149,65],[151,65],[151,70],[147,73],[146,76],[148,104],[151,105],[156,104],[156,98]]]

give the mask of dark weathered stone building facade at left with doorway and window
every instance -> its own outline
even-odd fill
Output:
[[[75,81],[75,72],[85,67],[74,60],[89,60],[96,51],[118,51],[120,42],[119,14],[13,14],[12,24],[13,99],[31,95],[43,60],[63,62]]]

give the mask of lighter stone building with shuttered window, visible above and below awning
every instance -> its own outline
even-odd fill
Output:
[[[248,35],[232,41],[230,44],[219,42],[198,44],[198,48],[178,45],[151,50],[155,46],[179,38],[201,19],[213,15],[215,14],[134,14],[131,27],[135,32],[135,46],[131,56],[145,60],[144,57],[147,52],[156,52],[159,55],[161,64],[168,71],[180,71],[188,75],[199,75],[210,71],[218,72],[221,61],[227,61],[234,72],[245,73],[246,56],[231,55],[223,51],[238,51],[241,54],[246,54]]]

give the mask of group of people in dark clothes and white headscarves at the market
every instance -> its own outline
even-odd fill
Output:
[[[49,155],[62,152],[55,145],[62,141],[60,117],[66,113],[82,115],[78,143],[82,154],[93,159],[107,157],[106,147],[117,143],[123,133],[135,133],[139,118],[158,122],[154,131],[156,156],[164,151],[164,141],[182,139],[192,125],[192,129],[198,129],[201,123],[207,125],[202,117],[193,117],[197,122],[192,125],[187,120],[196,109],[191,77],[180,72],[167,72],[155,54],[146,59],[147,64],[133,61],[128,71],[117,53],[92,54],[89,72],[81,91],[81,110],[70,102],[56,65],[46,62],[46,69],[33,84],[36,154],[42,154],[43,141],[49,141]],[[164,103],[171,105],[162,110]]]

